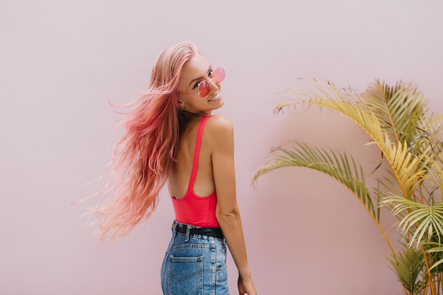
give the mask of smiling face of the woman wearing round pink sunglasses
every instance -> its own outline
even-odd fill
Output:
[[[195,54],[183,66],[178,82],[178,106],[187,112],[210,115],[224,104],[220,84],[211,79],[212,66],[200,54]],[[198,84],[201,81],[209,83],[209,94],[202,98]]]

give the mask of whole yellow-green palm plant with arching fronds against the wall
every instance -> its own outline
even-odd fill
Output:
[[[258,169],[256,181],[272,170],[298,166],[326,173],[345,185],[367,209],[391,249],[391,268],[405,294],[442,294],[443,290],[443,144],[437,133],[443,115],[428,115],[427,100],[411,83],[389,86],[376,80],[364,93],[312,82],[313,91],[297,95],[275,108],[316,105],[334,110],[355,122],[381,151],[385,176],[369,187],[362,165],[345,152],[296,141],[272,149],[270,161]],[[380,224],[381,207],[398,219],[403,248],[393,250]],[[389,212],[389,211],[387,211]]]

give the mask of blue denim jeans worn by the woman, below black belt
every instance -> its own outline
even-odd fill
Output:
[[[165,295],[229,295],[224,238],[178,233],[174,221],[171,242],[161,266]],[[195,228],[196,226],[188,226]]]

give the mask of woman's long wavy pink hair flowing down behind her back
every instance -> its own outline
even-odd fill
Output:
[[[182,118],[178,82],[183,65],[197,47],[182,42],[159,54],[148,90],[125,113],[125,127],[110,161],[108,182],[93,213],[100,214],[100,241],[120,241],[156,209],[159,192],[171,173]],[[126,105],[130,106],[130,105]]]

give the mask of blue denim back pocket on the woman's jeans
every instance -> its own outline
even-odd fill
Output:
[[[169,256],[170,294],[202,295],[203,256]]]

